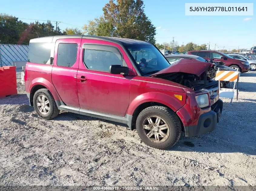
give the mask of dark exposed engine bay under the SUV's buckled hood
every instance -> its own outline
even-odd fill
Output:
[[[210,79],[208,71],[205,71],[200,76],[183,72],[173,72],[157,75],[155,77],[173,81],[175,83],[191,88],[194,91],[218,87],[218,81]]]

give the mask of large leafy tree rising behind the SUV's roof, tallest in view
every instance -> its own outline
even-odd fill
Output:
[[[110,0],[104,15],[88,21],[84,30],[89,35],[131,38],[155,43],[156,29],[144,12],[142,0]]]

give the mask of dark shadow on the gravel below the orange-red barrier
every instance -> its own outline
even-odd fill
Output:
[[[26,94],[17,94],[7,97],[1,97],[0,98],[0,105],[3,104],[28,104],[28,97]]]

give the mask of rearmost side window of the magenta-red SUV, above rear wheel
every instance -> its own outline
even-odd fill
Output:
[[[29,43],[28,62],[50,64],[52,43]]]

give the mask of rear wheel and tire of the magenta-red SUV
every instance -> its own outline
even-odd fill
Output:
[[[39,89],[35,92],[33,97],[33,105],[36,113],[42,119],[55,118],[60,112],[51,92],[46,88]]]

